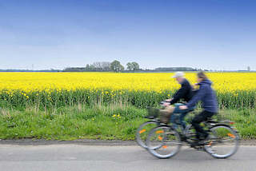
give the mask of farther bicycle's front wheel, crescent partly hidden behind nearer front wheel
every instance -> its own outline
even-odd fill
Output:
[[[143,148],[147,148],[146,146],[146,138],[150,133],[150,130],[153,129],[158,125],[156,121],[146,121],[140,125],[136,131],[136,141],[138,145],[142,146]]]

